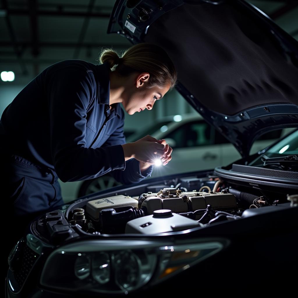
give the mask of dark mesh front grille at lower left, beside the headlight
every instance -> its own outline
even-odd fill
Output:
[[[36,252],[34,252],[31,248],[29,248],[27,245],[24,246],[23,253],[20,257],[21,266],[13,272],[15,280],[20,287],[24,284],[26,277],[28,276],[38,257],[39,255],[36,254]]]

